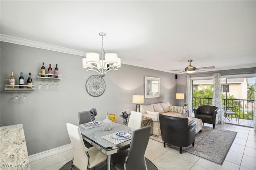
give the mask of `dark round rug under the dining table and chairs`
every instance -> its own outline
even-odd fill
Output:
[[[68,163],[66,163],[65,165],[63,165],[60,170],[70,170],[70,166],[71,166],[72,160],[70,160]],[[158,170],[158,168],[156,168],[156,166],[146,158],[146,164],[148,167],[148,170]],[[94,168],[92,168],[94,170]],[[104,161],[100,164],[98,164],[97,166],[95,166],[95,170],[106,170],[107,169],[107,162]],[[74,168],[72,170],[78,170],[78,168]]]

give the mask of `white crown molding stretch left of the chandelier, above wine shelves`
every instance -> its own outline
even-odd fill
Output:
[[[56,45],[50,45],[50,44],[46,44],[46,43],[39,43],[39,42],[36,42],[36,41],[30,41],[30,40],[27,40],[27,39],[12,37],[12,36],[3,35],[3,34],[0,34],[0,40],[4,41],[4,42],[7,42],[7,43],[25,45],[25,46],[28,46],[28,47],[35,47],[35,48],[39,48],[39,49],[58,51],[58,52],[61,52],[61,53],[67,53],[67,54],[78,55],[78,56],[83,56],[83,57],[86,56],[86,52],[84,52],[84,51],[68,49],[68,48],[59,47],[59,46],[56,46]]]

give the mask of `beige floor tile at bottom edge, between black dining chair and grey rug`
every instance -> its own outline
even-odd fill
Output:
[[[170,151],[162,154],[152,162],[165,170],[188,170],[194,165],[192,162],[173,156]]]

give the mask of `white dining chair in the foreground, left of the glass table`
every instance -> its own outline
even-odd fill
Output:
[[[88,170],[107,159],[107,156],[95,147],[88,149],[84,146],[81,131],[78,126],[71,123],[67,123],[66,126],[74,149],[74,159],[70,169],[72,169],[74,165],[80,170]]]

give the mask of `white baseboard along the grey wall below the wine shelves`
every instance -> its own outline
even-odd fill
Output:
[[[54,149],[50,149],[50,150],[46,150],[44,152],[39,152],[36,154],[32,154],[30,156],[28,156],[29,162],[34,162],[36,160],[42,159],[42,158],[46,158],[48,156],[52,156],[54,154],[58,154],[67,150],[73,149],[72,144],[68,144],[68,145],[64,145],[58,148],[54,148]]]

